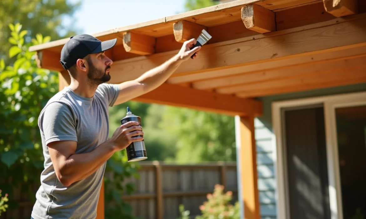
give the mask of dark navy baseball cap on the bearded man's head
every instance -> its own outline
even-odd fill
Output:
[[[79,34],[70,37],[70,40],[61,50],[60,63],[65,69],[73,66],[78,59],[93,53],[103,52],[114,47],[117,39],[100,41],[88,34]]]

